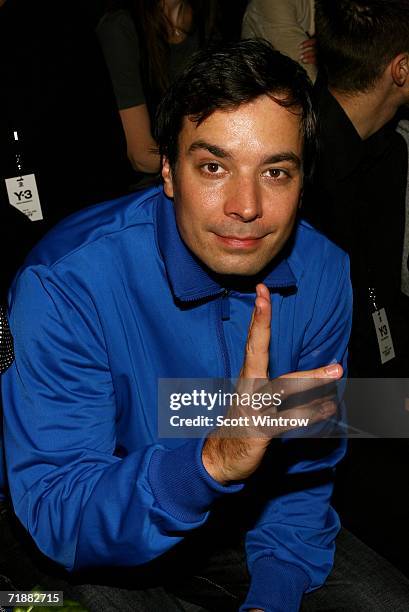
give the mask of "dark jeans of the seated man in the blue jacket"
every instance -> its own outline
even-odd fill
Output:
[[[39,584],[63,590],[65,597],[80,600],[89,612],[233,612],[247,593],[249,576],[243,546],[231,546],[222,533],[215,540],[216,552],[204,532],[204,537],[192,534],[144,568],[69,575],[34,548],[30,550],[28,540],[20,540],[18,529],[3,512],[0,582],[3,574],[15,588]],[[9,588],[10,583],[3,582],[0,590]],[[337,538],[335,564],[326,584],[305,595],[301,607],[301,612],[408,610],[409,580],[346,530]]]

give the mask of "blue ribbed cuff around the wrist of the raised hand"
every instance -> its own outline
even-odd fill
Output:
[[[158,449],[149,465],[148,478],[158,504],[185,523],[203,521],[212,502],[244,486],[224,486],[208,474],[202,462],[204,443],[205,439],[189,440],[172,450]]]

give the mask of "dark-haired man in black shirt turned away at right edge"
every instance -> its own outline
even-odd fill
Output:
[[[409,2],[320,0],[316,28],[321,154],[306,216],[350,256],[349,375],[407,378],[408,153],[396,126],[409,101]],[[376,401],[390,413],[389,395],[378,391],[368,415]],[[340,482],[345,524],[406,572],[407,456],[404,440],[353,441]]]

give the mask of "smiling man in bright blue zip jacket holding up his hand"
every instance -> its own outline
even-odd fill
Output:
[[[156,422],[158,378],[342,374],[347,258],[296,221],[314,148],[309,88],[266,42],[197,55],[158,116],[163,190],[71,217],[16,280],[3,385],[11,494],[43,552],[114,583],[82,587],[90,610],[296,611],[331,569],[342,444],[278,439],[279,427],[271,444],[223,429],[159,441]],[[325,426],[334,410],[297,414]],[[340,554],[353,546],[344,536]],[[375,571],[362,555],[354,603]],[[404,610],[405,580],[377,580]],[[334,593],[348,598],[341,584],[304,604],[324,597],[329,609]]]

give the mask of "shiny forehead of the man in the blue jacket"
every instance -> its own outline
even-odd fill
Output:
[[[185,152],[198,139],[244,153],[291,149],[302,151],[301,111],[287,109],[269,96],[228,110],[216,110],[199,125],[185,117],[179,134],[180,151]]]

